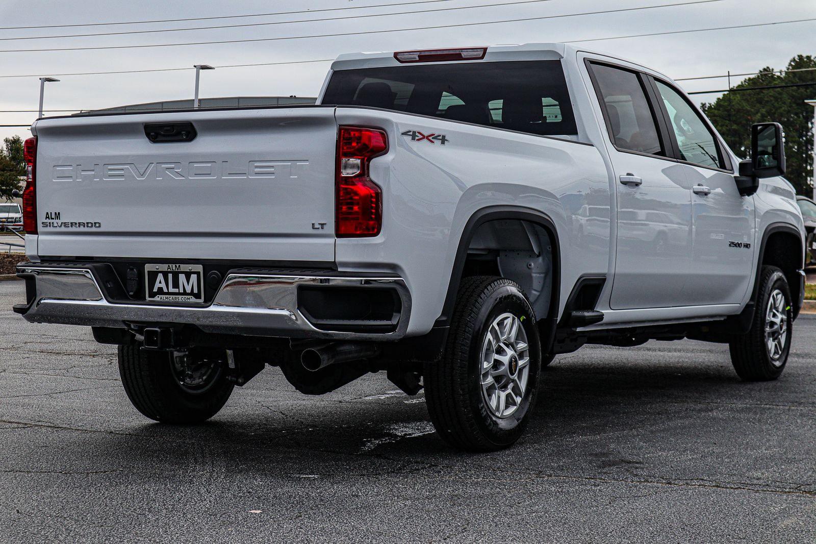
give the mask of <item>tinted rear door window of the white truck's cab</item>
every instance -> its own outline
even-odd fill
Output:
[[[618,149],[666,156],[641,78],[634,72],[592,65],[598,99],[606,110],[610,138]]]

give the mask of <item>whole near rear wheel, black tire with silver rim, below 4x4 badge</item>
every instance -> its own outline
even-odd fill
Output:
[[[515,341],[502,334],[512,324]],[[494,363],[484,374],[483,354]],[[424,368],[425,401],[441,438],[477,452],[514,444],[535,405],[540,365],[535,315],[521,288],[494,276],[463,279],[442,360]]]

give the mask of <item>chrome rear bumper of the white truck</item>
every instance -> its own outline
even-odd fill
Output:
[[[222,334],[396,341],[405,336],[411,307],[405,281],[390,274],[231,270],[206,305],[110,301],[95,265],[24,263],[17,267],[17,275],[26,280],[26,303],[14,310],[32,323],[109,328],[192,325]],[[304,288],[326,293],[385,290],[392,293],[395,310],[390,319],[381,315],[379,319],[316,319],[299,301]],[[332,300],[331,295],[326,300]]]

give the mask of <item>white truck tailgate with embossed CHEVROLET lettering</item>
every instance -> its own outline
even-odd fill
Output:
[[[184,123],[192,140],[149,137]],[[334,261],[331,107],[53,118],[33,132],[41,257]]]

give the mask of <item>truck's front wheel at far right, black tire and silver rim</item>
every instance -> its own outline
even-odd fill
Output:
[[[769,326],[771,329],[766,331]],[[769,337],[769,334],[773,336]],[[787,279],[782,270],[765,265],[760,274],[759,296],[751,328],[729,343],[731,363],[738,376],[745,381],[778,378],[787,363],[792,334],[793,310]]]

